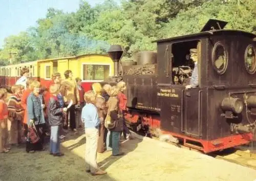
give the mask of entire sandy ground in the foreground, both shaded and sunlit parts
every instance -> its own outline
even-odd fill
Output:
[[[24,147],[0,154],[0,179],[5,180],[254,180],[256,171],[155,140],[123,142],[124,156],[98,154],[107,175],[85,172],[86,140],[82,130],[62,142],[63,157],[48,151],[26,153]]]

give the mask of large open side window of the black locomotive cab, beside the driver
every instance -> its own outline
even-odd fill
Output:
[[[188,85],[200,57],[199,40],[172,44],[173,84]]]

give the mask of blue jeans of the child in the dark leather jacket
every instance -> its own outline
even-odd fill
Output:
[[[51,126],[50,153],[60,152],[59,130],[60,126]]]

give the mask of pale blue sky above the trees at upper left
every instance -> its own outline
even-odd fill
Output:
[[[44,18],[48,8],[75,12],[80,0],[0,0],[0,48],[4,39],[36,26],[38,18]],[[94,6],[104,0],[87,0]]]

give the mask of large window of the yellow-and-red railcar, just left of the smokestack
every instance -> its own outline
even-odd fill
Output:
[[[104,80],[110,74],[110,65],[83,65],[83,80]]]

